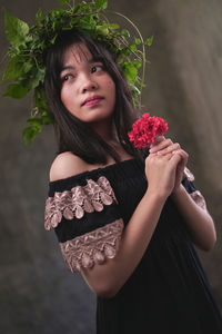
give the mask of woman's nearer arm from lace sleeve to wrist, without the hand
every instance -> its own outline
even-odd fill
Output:
[[[165,198],[145,193],[123,230],[118,254],[103,265],[82,269],[90,288],[102,297],[113,297],[141,261],[158,224]]]

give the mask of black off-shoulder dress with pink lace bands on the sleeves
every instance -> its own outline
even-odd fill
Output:
[[[192,175],[183,186],[203,209]],[[50,183],[47,229],[53,228],[72,272],[113,258],[148,187],[137,158]],[[168,198],[147,250],[112,298],[98,296],[98,334],[222,334],[222,318],[185,222]]]

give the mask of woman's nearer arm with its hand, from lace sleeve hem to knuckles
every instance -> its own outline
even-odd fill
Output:
[[[145,160],[149,187],[123,230],[113,259],[92,269],[82,269],[90,288],[103,297],[113,297],[141,261],[158,224],[163,205],[174,187],[180,155],[150,155]]]

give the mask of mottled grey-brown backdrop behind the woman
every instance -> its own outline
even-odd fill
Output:
[[[40,7],[46,11],[58,3],[0,0],[0,58],[8,47],[3,8],[32,23]],[[189,151],[189,167],[208,199],[218,243],[200,256],[222,307],[222,2],[110,0],[109,7],[129,16],[145,37],[154,36],[143,104],[168,119],[168,135]],[[24,147],[21,131],[30,106],[31,95],[0,98],[0,332],[93,334],[95,297],[80,275],[69,273],[54,234],[43,229],[54,139],[47,128]]]

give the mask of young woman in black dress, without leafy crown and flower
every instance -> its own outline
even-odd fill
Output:
[[[46,228],[98,296],[97,333],[222,333],[193,247],[211,249],[215,229],[188,154],[162,136],[133,148],[131,92],[100,42],[64,31],[46,65],[59,144]]]

